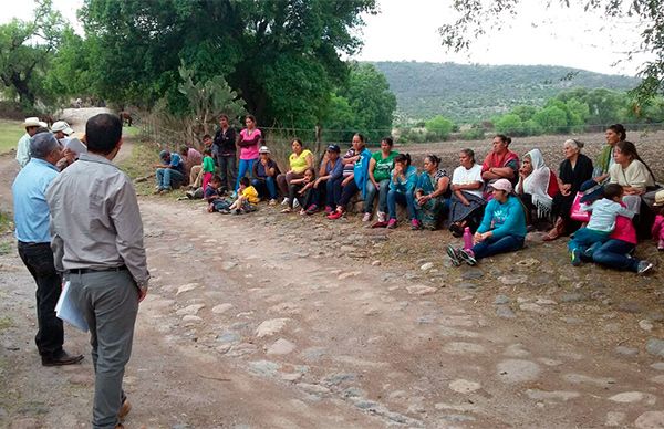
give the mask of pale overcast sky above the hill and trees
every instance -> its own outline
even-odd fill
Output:
[[[332,0],[331,0],[332,1]],[[447,53],[437,29],[452,12],[452,0],[378,0],[380,13],[365,17],[364,40],[357,60],[430,61],[480,64],[553,64],[609,74],[636,73],[644,57],[624,60],[624,51],[639,41],[639,22],[608,21],[582,9],[550,8],[547,0],[522,0],[515,19],[487,19],[487,35],[470,52]],[[74,22],[82,0],[54,0],[54,7]],[[29,19],[33,1],[4,2],[0,22]],[[80,25],[74,25],[80,28]]]

